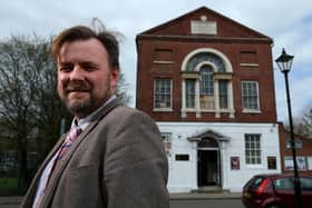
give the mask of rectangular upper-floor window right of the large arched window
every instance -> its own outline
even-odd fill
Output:
[[[242,81],[244,110],[260,110],[257,81]]]

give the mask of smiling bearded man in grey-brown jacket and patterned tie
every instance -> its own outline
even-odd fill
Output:
[[[114,34],[87,27],[53,41],[58,93],[75,116],[74,130],[48,155],[21,207],[169,207],[158,128],[115,96],[118,50]]]

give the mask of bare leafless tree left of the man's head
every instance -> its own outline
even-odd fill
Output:
[[[18,152],[19,187],[31,178],[28,151],[46,155],[59,136],[61,103],[56,90],[56,68],[50,40],[36,36],[11,37],[0,43],[0,116]],[[51,133],[47,132],[51,131]],[[48,142],[47,142],[48,141]],[[40,145],[45,143],[45,147]]]

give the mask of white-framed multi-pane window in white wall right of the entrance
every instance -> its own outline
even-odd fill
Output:
[[[247,165],[261,164],[261,135],[245,135],[245,159]]]

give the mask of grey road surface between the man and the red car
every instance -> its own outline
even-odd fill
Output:
[[[244,208],[241,199],[183,199],[170,200],[170,208]]]

